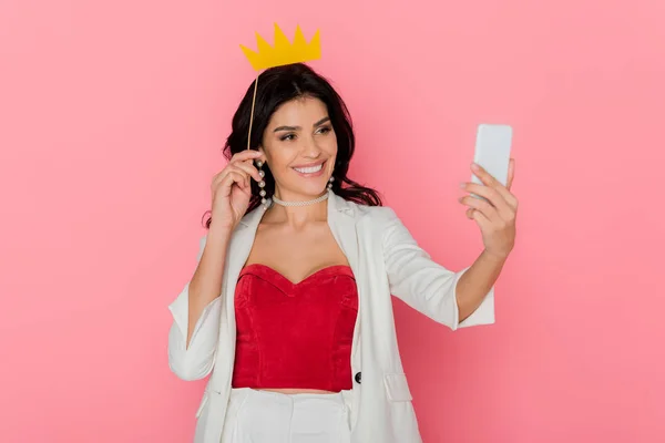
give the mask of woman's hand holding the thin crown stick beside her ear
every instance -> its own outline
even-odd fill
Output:
[[[246,150],[235,154],[226,167],[213,177],[212,223],[218,229],[233,231],[249,207],[252,182],[260,182],[254,161],[262,158],[258,151]]]

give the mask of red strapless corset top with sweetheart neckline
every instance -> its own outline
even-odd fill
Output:
[[[293,284],[264,265],[242,271],[235,293],[233,388],[351,389],[358,292],[348,266]]]

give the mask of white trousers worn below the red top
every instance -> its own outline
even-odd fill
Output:
[[[349,443],[350,395],[233,389],[221,443]]]

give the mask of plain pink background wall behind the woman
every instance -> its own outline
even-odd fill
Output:
[[[665,2],[354,3],[0,2],[0,441],[191,441],[166,306],[274,21],[321,30],[355,177],[450,268],[475,127],[514,126],[497,324],[396,301],[424,441],[665,441]]]

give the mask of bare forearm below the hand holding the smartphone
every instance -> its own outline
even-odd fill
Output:
[[[497,282],[505,258],[492,256],[483,250],[457,284],[459,321],[473,313]]]

